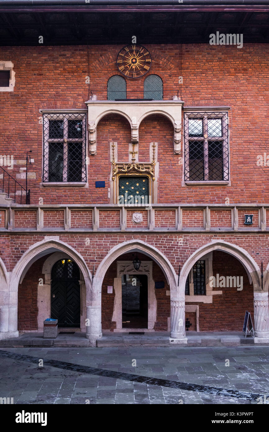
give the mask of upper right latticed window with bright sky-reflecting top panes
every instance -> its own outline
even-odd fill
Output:
[[[228,113],[185,112],[185,181],[228,181]]]

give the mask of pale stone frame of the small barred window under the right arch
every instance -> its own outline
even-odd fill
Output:
[[[206,294],[203,295],[194,295],[194,287],[193,287],[193,267],[188,274],[189,285],[190,285],[190,295],[185,294],[185,302],[199,302],[199,303],[212,303],[213,295],[222,295],[222,291],[213,291],[213,288],[209,286],[209,278],[213,276],[213,268],[212,268],[212,260],[213,260],[213,252],[209,252],[203,257],[199,258],[198,261],[205,261],[205,280],[206,280]],[[195,264],[195,263],[193,263]]]

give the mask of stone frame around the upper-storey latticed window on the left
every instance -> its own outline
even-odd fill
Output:
[[[55,110],[46,110],[46,109],[41,109],[39,110],[39,112],[43,115],[43,122],[44,121],[48,121],[49,120],[49,116],[50,114],[53,116],[54,114],[57,115],[63,115],[63,118],[66,114],[76,114],[76,118],[77,119],[77,114],[82,114],[82,119],[83,119],[83,127],[85,127],[85,151],[83,154],[83,158],[85,160],[85,181],[61,181],[61,182],[55,182],[55,181],[44,181],[44,170],[47,168],[48,166],[48,162],[46,163],[46,161],[44,160],[44,154],[45,154],[45,149],[48,149],[48,141],[44,140],[44,124],[43,124],[43,137],[42,137],[42,186],[45,187],[89,187],[89,183],[88,183],[88,129],[87,129],[87,110],[78,110],[78,109],[55,109]],[[44,116],[45,114],[45,116]],[[86,115],[85,115],[86,114]],[[46,120],[45,120],[46,118]],[[85,120],[85,122],[84,122]],[[82,149],[82,153],[83,153],[83,149]]]

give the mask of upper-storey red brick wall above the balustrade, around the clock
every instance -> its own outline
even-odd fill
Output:
[[[107,81],[118,74],[117,52],[121,45],[90,46],[88,66],[85,46],[40,46],[0,48],[0,58],[14,63],[14,92],[1,92],[1,152],[13,155],[15,165],[10,174],[16,177],[25,168],[25,149],[31,148],[35,160],[29,165],[31,202],[40,197],[48,203],[107,203],[111,173],[109,142],[118,142],[118,160],[128,160],[130,126],[116,114],[101,119],[97,127],[97,155],[89,157],[88,181],[85,187],[42,187],[42,124],[40,109],[86,108],[90,88],[99,100],[107,98]],[[159,172],[158,202],[246,202],[269,201],[268,167],[257,165],[257,156],[268,153],[267,44],[236,46],[208,44],[148,44],[152,55],[149,73],[161,76],[164,99],[171,99],[179,89],[185,106],[228,105],[230,129],[231,186],[184,186],[182,155],[173,150],[173,127],[168,119],[155,115],[142,121],[139,128],[141,160],[149,159],[149,143],[157,141]],[[72,60],[72,61],[71,61]],[[57,65],[57,67],[55,67]],[[147,75],[146,75],[147,76]],[[127,97],[143,97],[141,79],[127,79]],[[178,84],[178,76],[183,83]],[[13,127],[10,127],[12,113]],[[251,120],[250,120],[251,119]],[[258,133],[257,133],[258,131]],[[18,162],[20,161],[20,162]],[[254,181],[250,181],[250,177]],[[96,180],[106,187],[95,188]]]

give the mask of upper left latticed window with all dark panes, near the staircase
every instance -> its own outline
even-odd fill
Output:
[[[43,134],[43,181],[85,183],[86,114],[44,114]]]

